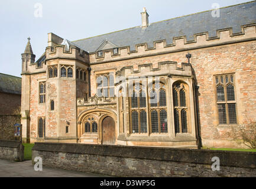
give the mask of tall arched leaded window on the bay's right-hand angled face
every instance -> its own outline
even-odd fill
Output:
[[[187,133],[188,122],[187,112],[189,111],[187,105],[188,89],[187,85],[182,82],[173,84],[173,107],[174,107],[174,129],[175,133]]]

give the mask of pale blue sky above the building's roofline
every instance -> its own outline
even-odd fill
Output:
[[[74,41],[141,25],[147,9],[149,22],[162,21],[249,0],[8,0],[0,1],[0,73],[21,77],[21,53],[30,37],[35,61],[53,32]]]

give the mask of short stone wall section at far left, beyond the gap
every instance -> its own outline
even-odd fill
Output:
[[[0,159],[24,160],[24,146],[20,141],[0,141]]]

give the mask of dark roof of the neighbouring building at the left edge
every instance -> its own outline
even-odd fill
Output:
[[[0,92],[21,94],[21,77],[0,73]]]

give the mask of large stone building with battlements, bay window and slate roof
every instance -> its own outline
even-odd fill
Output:
[[[237,147],[256,119],[256,2],[22,54],[24,141]]]

